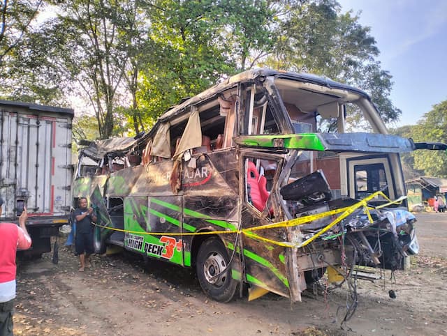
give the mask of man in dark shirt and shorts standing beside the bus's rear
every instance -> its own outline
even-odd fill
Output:
[[[82,197],[78,201],[78,206],[75,210],[76,218],[76,253],[79,254],[81,267],[80,272],[83,272],[85,266],[89,265],[90,254],[93,253],[93,225],[91,222],[96,222],[96,215],[93,213],[93,208],[87,208],[87,199]]]

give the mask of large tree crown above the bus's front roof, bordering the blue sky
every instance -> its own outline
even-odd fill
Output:
[[[352,12],[341,13],[335,0],[298,2],[279,24],[277,50],[265,64],[357,86],[372,96],[389,123],[402,112],[390,100],[392,77],[375,61],[379,49],[369,31]],[[358,114],[352,118],[360,121]]]

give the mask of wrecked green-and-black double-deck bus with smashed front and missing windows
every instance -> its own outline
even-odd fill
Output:
[[[366,131],[349,132],[359,125]],[[360,266],[400,270],[418,252],[400,153],[446,146],[387,133],[359,89],[250,70],[172,107],[140,137],[82,148],[73,204],[89,197],[96,208],[97,252],[119,245],[194,267],[221,302],[246,287],[249,298],[300,301],[326,270],[353,289],[371,278]]]

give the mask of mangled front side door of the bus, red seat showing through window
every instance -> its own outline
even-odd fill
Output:
[[[242,156],[240,179],[244,181],[241,222],[242,229],[258,227],[280,220],[278,197],[275,194],[281,160],[258,155]],[[242,187],[242,185],[241,185]],[[276,203],[276,204],[275,204]],[[282,296],[289,296],[288,272],[286,269],[286,247],[268,243],[284,240],[284,228],[254,231],[244,235],[244,280],[252,289],[261,287]],[[258,236],[260,238],[258,238]]]

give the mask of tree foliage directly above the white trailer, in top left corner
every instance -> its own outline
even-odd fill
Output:
[[[0,96],[8,100],[66,105],[46,60],[47,44],[36,33],[43,1],[0,3]],[[46,65],[46,66],[45,66]]]

